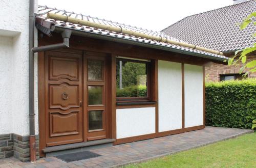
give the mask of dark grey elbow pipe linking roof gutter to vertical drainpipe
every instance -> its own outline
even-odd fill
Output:
[[[62,43],[34,47],[34,48],[32,48],[32,52],[35,53],[35,52],[40,52],[40,51],[52,50],[52,49],[69,48],[69,39],[70,39],[71,34],[72,34],[71,30],[65,29],[61,33],[61,36],[63,38]]]

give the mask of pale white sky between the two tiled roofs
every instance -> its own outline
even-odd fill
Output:
[[[38,0],[39,5],[161,31],[186,16],[233,4],[233,0]]]

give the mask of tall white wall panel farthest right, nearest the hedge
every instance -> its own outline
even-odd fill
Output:
[[[185,128],[203,125],[203,66],[184,64]]]

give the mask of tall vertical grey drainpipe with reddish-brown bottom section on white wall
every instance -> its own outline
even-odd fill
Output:
[[[30,143],[30,161],[36,161],[35,145],[35,111],[34,111],[34,12],[35,2],[29,0],[29,143]]]

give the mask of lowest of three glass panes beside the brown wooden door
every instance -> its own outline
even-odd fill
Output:
[[[89,111],[89,130],[102,129],[102,110]]]

